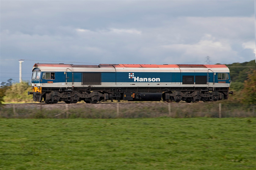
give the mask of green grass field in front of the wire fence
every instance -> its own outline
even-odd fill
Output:
[[[256,118],[0,119],[0,169],[256,169]]]

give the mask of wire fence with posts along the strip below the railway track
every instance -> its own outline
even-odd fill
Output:
[[[256,117],[256,104],[100,103],[5,104],[0,118]]]

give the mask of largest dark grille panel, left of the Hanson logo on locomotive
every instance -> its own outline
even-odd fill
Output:
[[[82,85],[101,85],[101,73],[82,73]]]

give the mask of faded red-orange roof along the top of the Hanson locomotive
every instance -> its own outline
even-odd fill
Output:
[[[45,67],[144,67],[144,68],[226,68],[224,64],[99,64],[99,65],[75,65],[75,64],[48,64],[48,63],[36,63],[34,67],[45,66]]]

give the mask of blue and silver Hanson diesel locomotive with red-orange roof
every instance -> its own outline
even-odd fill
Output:
[[[44,64],[33,66],[33,100],[97,103],[128,101],[217,101],[228,99],[225,65],[203,64]]]

